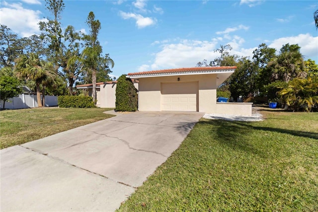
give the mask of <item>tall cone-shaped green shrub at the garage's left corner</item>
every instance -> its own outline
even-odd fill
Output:
[[[117,80],[116,87],[116,110],[136,111],[138,108],[137,89],[133,82],[126,75],[122,75]]]

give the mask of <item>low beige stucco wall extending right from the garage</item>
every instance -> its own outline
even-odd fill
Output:
[[[252,115],[253,103],[217,103],[217,112],[230,115]]]

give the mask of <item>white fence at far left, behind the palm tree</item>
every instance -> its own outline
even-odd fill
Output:
[[[41,95],[42,98],[42,95]],[[9,99],[9,102],[5,102],[5,109],[22,109],[37,107],[38,102],[36,95],[19,95],[19,97],[13,97]],[[58,97],[56,96],[45,96],[45,106],[58,106]],[[0,108],[3,109],[3,101],[0,102]]]

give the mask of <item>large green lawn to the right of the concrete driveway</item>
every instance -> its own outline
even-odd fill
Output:
[[[201,119],[118,211],[318,211],[318,113]]]

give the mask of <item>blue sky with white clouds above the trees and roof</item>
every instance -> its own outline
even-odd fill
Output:
[[[19,36],[38,34],[50,14],[43,0],[1,0],[0,23]],[[213,60],[213,50],[252,57],[266,43],[278,51],[298,43],[305,59],[318,63],[317,0],[65,0],[62,27],[88,32],[90,11],[101,22],[99,41],[115,66],[112,75],[195,67]]]

